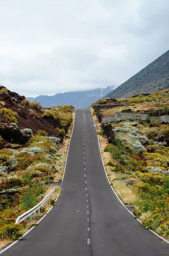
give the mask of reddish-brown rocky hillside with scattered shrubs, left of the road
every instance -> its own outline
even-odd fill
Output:
[[[60,137],[56,128],[64,128],[67,131],[72,120],[64,111],[64,108],[60,107],[60,112],[63,112],[64,116],[62,118],[58,108],[52,113],[52,109],[42,108],[39,102],[31,103],[24,96],[0,86],[0,148],[11,147],[12,144],[25,145],[30,134],[26,130],[23,131],[24,129],[31,129],[32,134],[43,130],[49,136]]]

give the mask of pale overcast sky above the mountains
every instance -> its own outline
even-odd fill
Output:
[[[169,49],[169,0],[0,0],[0,83],[25,96],[115,85]]]

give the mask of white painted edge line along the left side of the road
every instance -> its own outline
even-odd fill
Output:
[[[70,142],[71,142],[71,139],[72,139],[72,134],[73,134],[73,130],[74,130],[74,122],[75,122],[75,115],[76,115],[76,109],[75,109],[75,112],[74,112],[74,121],[73,121],[73,128],[72,128],[72,133],[71,133],[71,136],[70,136],[70,140],[69,140],[69,146],[70,146]],[[68,146],[68,151],[67,151],[67,156],[66,156],[66,162],[65,162],[65,167],[64,167],[64,172],[63,172],[63,179],[64,179],[64,175],[65,175],[65,170],[66,170],[66,163],[67,163],[67,158],[68,158],[68,153],[69,153],[69,146]],[[62,179],[62,183],[63,183],[63,179]],[[59,193],[60,194],[60,193]],[[57,197],[58,198],[58,197]],[[57,201],[57,198],[55,201]],[[53,206],[49,209],[48,212],[50,212],[50,210],[52,210]],[[47,213],[48,213],[47,212]],[[45,218],[45,216],[47,215],[47,213],[45,215],[43,215],[42,218],[40,218],[39,221],[37,221],[37,224],[43,220],[43,218]],[[35,226],[34,226],[35,227]],[[34,227],[30,228],[30,230],[28,230],[23,236],[20,237],[20,239],[22,239],[24,236],[26,236]],[[10,244],[9,246],[7,246],[6,248],[4,249],[0,249],[0,254],[3,253],[4,251],[8,250],[12,245],[16,244],[20,239],[14,241],[12,244]]]

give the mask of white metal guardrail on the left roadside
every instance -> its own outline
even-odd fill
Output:
[[[29,221],[32,221],[32,214],[34,213],[34,217],[36,217],[36,212],[38,212],[38,214],[40,213],[40,207],[42,207],[44,205],[45,207],[45,203],[46,201],[52,196],[52,194],[55,192],[56,188],[52,189],[52,191],[46,195],[45,198],[43,198],[43,200],[37,204],[36,206],[34,206],[32,209],[28,210],[27,212],[23,213],[22,215],[18,216],[15,224],[20,223],[22,221],[26,221],[26,218],[29,217]]]

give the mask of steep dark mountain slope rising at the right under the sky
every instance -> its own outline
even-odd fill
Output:
[[[169,51],[140,70],[106,97],[126,98],[169,88]]]

